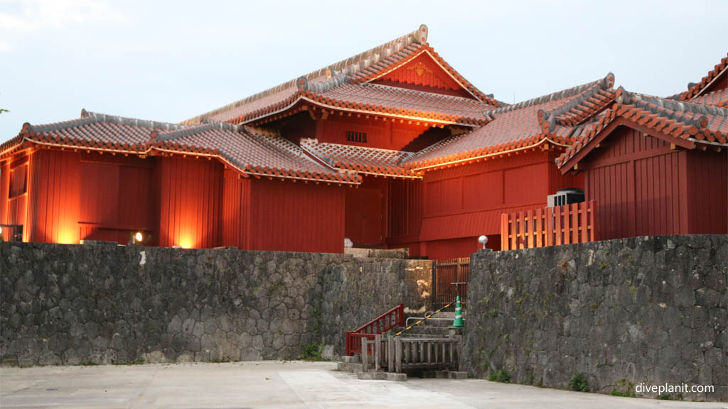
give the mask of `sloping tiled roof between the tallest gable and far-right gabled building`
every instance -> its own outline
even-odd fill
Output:
[[[467,162],[482,156],[527,148],[552,140],[566,144],[579,124],[603,111],[614,100],[614,75],[486,114],[493,118],[483,127],[454,135],[407,159],[409,169]]]

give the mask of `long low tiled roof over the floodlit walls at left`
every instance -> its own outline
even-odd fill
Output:
[[[280,136],[222,122],[184,126],[82,111],[80,119],[67,122],[24,124],[17,137],[0,146],[0,154],[25,142],[126,154],[194,154],[215,157],[244,175],[349,184],[361,181],[356,174],[318,164]]]

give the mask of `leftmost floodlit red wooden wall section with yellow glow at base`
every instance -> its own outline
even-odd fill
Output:
[[[41,149],[30,160],[28,241],[78,243],[80,155]]]

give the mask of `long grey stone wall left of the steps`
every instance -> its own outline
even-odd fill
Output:
[[[4,365],[293,359],[312,345],[334,357],[344,329],[399,302],[427,308],[428,264],[2,242],[0,358]]]

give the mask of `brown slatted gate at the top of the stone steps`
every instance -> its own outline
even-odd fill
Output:
[[[448,303],[455,301],[460,295],[463,307],[467,302],[467,278],[470,273],[470,257],[448,258],[438,260],[433,270],[432,283],[435,290],[435,298],[432,300],[432,308],[440,309]],[[454,310],[455,306],[448,307]]]

